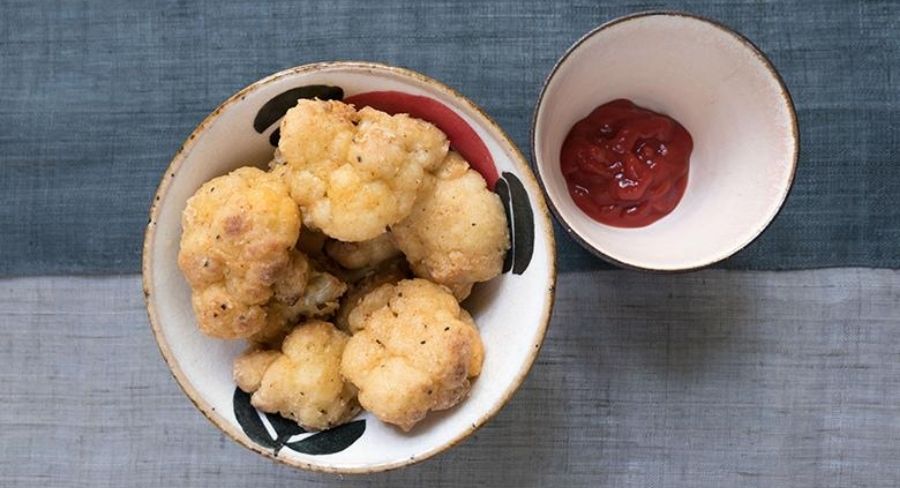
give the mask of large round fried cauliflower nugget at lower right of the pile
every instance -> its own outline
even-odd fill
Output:
[[[422,279],[382,285],[362,309],[368,313],[344,349],[341,372],[359,389],[363,408],[408,431],[428,411],[465,398],[484,351],[471,317],[446,288]]]

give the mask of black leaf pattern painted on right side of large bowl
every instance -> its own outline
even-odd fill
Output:
[[[534,255],[534,211],[531,201],[525,185],[512,173],[503,173],[494,186],[494,192],[503,201],[512,238],[512,249],[506,253],[503,272],[511,269],[513,274],[520,275],[528,269]]]

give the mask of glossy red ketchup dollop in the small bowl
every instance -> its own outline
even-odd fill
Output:
[[[694,141],[677,121],[619,99],[578,121],[560,166],[575,204],[594,220],[643,227],[684,195]]]

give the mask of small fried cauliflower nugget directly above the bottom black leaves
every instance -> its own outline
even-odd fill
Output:
[[[264,368],[250,403],[263,412],[292,419],[309,430],[327,429],[349,421],[359,411],[359,404],[356,388],[344,381],[340,371],[347,339],[347,334],[328,322],[312,321],[297,326],[285,338],[278,357]],[[250,355],[244,359],[241,372],[247,386],[253,386],[258,364],[268,358]],[[245,364],[248,366],[243,368]],[[237,369],[236,365],[236,373]]]

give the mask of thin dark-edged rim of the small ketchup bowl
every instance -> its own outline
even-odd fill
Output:
[[[788,115],[790,115],[790,119],[791,119],[791,134],[790,134],[790,136],[791,136],[791,142],[793,143],[793,146],[794,146],[793,147],[793,157],[791,158],[791,171],[790,171],[790,174],[788,175],[788,181],[787,181],[787,184],[785,185],[785,189],[782,192],[782,194],[780,195],[780,201],[778,202],[778,209],[768,218],[768,220],[766,220],[763,223],[763,225],[761,225],[759,227],[759,229],[756,230],[756,232],[754,234],[751,234],[750,237],[748,239],[746,239],[744,242],[738,243],[731,251],[729,251],[721,256],[714,257],[713,259],[711,259],[705,263],[701,263],[696,266],[690,266],[690,267],[685,267],[685,268],[662,269],[662,268],[649,268],[649,267],[639,266],[634,263],[626,263],[626,262],[620,261],[620,260],[604,253],[600,249],[597,249],[596,247],[594,247],[593,244],[588,242],[587,239],[583,238],[580,234],[578,234],[578,232],[576,232],[572,228],[571,225],[569,225],[568,221],[563,216],[563,213],[559,210],[559,208],[557,208],[556,204],[553,202],[553,198],[550,198],[550,193],[547,191],[547,187],[544,184],[544,174],[541,171],[542,165],[538,163],[538,156],[537,156],[537,152],[535,151],[535,143],[537,141],[537,130],[536,130],[537,129],[537,120],[538,120],[538,114],[540,113],[541,108],[544,103],[544,95],[547,92],[547,87],[550,85],[550,81],[556,75],[559,68],[568,60],[569,56],[572,53],[574,53],[579,47],[581,47],[581,45],[585,41],[587,41],[591,37],[601,33],[602,31],[606,30],[609,27],[612,27],[614,25],[621,24],[624,22],[628,22],[631,20],[638,20],[638,19],[642,19],[644,17],[654,17],[654,16],[685,17],[690,20],[695,20],[695,21],[709,24],[710,26],[712,26],[716,29],[719,29],[720,31],[734,37],[737,41],[739,41],[741,44],[743,44],[744,47],[749,49],[750,52],[756,56],[757,59],[759,59],[762,62],[763,67],[766,68],[766,71],[768,71],[769,74],[778,83],[779,90],[781,92],[781,97],[785,103],[785,106],[788,108]],[[608,22],[604,22],[603,24],[600,24],[599,26],[594,27],[593,29],[588,31],[586,34],[581,36],[578,40],[576,40],[574,43],[572,43],[572,45],[569,46],[568,49],[566,49],[566,52],[563,53],[563,55],[559,58],[559,60],[553,65],[553,69],[550,70],[550,73],[547,75],[547,78],[544,79],[544,84],[541,87],[541,93],[540,93],[540,95],[538,95],[538,101],[537,101],[537,104],[535,104],[534,113],[532,114],[532,117],[531,117],[531,160],[534,165],[534,170],[538,175],[538,183],[540,184],[541,189],[544,191],[544,194],[547,195],[547,204],[549,205],[550,210],[552,211],[553,215],[556,217],[556,221],[559,222],[560,226],[563,229],[565,229],[566,234],[568,234],[569,237],[572,238],[572,240],[577,242],[579,245],[581,245],[582,248],[586,249],[588,252],[590,252],[594,256],[597,256],[600,259],[602,259],[610,264],[613,264],[615,266],[618,266],[620,268],[631,269],[631,270],[636,270],[636,271],[650,271],[650,272],[660,273],[660,274],[684,273],[684,272],[690,272],[690,271],[697,271],[697,270],[700,270],[703,268],[708,268],[708,267],[710,267],[716,263],[719,263],[721,261],[724,261],[724,260],[734,256],[735,254],[737,254],[738,252],[740,252],[741,250],[743,250],[750,244],[752,244],[772,224],[772,222],[775,220],[776,217],[778,217],[778,215],[781,213],[781,210],[784,208],[784,203],[785,203],[785,201],[787,201],[788,195],[790,194],[791,190],[794,187],[794,178],[797,174],[797,163],[798,163],[799,159],[800,159],[800,129],[799,129],[799,125],[797,122],[797,111],[796,111],[796,108],[794,107],[794,100],[791,97],[791,93],[788,90],[787,84],[784,82],[784,79],[781,77],[781,74],[779,74],[778,70],[775,69],[775,65],[772,63],[772,61],[769,59],[769,57],[765,54],[765,52],[763,52],[763,50],[760,49],[756,44],[754,44],[753,41],[751,41],[748,37],[744,36],[737,30],[732,29],[731,27],[723,24],[722,22],[711,19],[709,17],[704,17],[702,15],[697,15],[697,14],[693,14],[693,13],[689,13],[689,12],[683,12],[683,11],[679,11],[679,10],[648,10],[648,11],[644,11],[644,12],[636,12],[633,14],[623,15],[621,17],[612,19]]]

